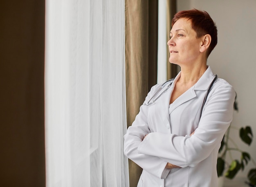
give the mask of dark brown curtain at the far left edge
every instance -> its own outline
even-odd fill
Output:
[[[45,187],[45,0],[0,2],[0,186]]]

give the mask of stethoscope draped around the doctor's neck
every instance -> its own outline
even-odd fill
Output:
[[[211,90],[211,87],[213,86],[213,83],[216,81],[216,79],[217,79],[217,75],[216,74],[214,74],[214,79],[213,79],[213,81],[211,82],[211,84],[210,84],[210,86],[209,86],[209,88],[208,88],[208,90],[207,90],[207,93],[206,93],[206,95],[205,95],[205,97],[204,97],[204,102],[203,102],[203,105],[202,105],[202,109],[204,108],[204,104],[205,104],[205,102],[206,102],[206,100],[207,100],[207,97],[208,97],[208,95],[209,95],[209,92],[210,92],[210,90]],[[166,81],[164,84],[162,84],[162,86],[157,90],[157,92],[155,92],[155,94],[148,100],[148,102],[147,103],[143,103],[143,105],[145,105],[145,106],[149,106],[149,105],[152,105],[153,103],[155,103],[155,101],[159,98],[159,97],[161,97],[161,95],[163,95],[170,87],[171,87],[171,85],[172,85],[172,83],[173,83],[173,80],[174,79],[170,79],[170,80],[168,80],[168,81]],[[162,90],[162,88],[164,88],[164,86],[168,83],[168,82],[170,82],[170,84],[167,86],[167,88],[158,96],[158,97],[156,97],[155,99],[153,99],[156,95],[157,95],[157,93],[159,93],[160,92],[160,90]],[[201,115],[202,115],[202,110],[201,110]]]

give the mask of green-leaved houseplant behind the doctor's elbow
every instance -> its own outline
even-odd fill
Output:
[[[234,102],[234,110],[238,112],[238,103],[236,99]],[[240,170],[243,171],[245,166],[251,160],[255,168],[249,171],[247,178],[249,179],[250,185],[254,186],[256,185],[256,163],[251,158],[250,154],[248,152],[244,152],[243,150],[241,150],[238,147],[238,145],[235,143],[235,141],[230,137],[231,128],[233,128],[232,125],[230,125],[229,128],[227,129],[227,132],[221,142],[218,161],[217,161],[218,177],[224,175],[226,178],[229,178],[229,179],[234,178]],[[253,134],[250,126],[246,126],[245,128],[243,127],[240,128],[239,136],[244,143],[246,143],[247,145],[251,145]],[[230,145],[230,143],[232,145]],[[241,154],[240,159],[232,158],[232,153],[231,153],[232,151],[240,152]],[[229,163],[226,160],[227,153],[231,157],[231,163]]]

